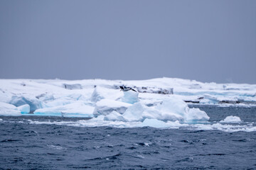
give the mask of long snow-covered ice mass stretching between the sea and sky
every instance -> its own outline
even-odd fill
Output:
[[[119,86],[128,86],[137,92],[120,91]],[[84,117],[92,119],[79,125],[120,128],[189,126],[223,130],[227,128],[225,123],[242,122],[240,118],[228,117],[210,125],[207,113],[188,108],[189,103],[256,105],[256,85],[171,78],[142,81],[0,79],[0,115]]]

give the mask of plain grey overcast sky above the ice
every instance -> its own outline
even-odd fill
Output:
[[[256,1],[0,0],[1,79],[256,84]]]

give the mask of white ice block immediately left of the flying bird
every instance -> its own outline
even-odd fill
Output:
[[[102,100],[103,98],[109,98],[112,100],[117,100],[118,98],[121,98],[122,92],[117,89],[107,89],[104,87],[97,86],[95,87],[95,90],[92,93],[91,101],[97,102]]]

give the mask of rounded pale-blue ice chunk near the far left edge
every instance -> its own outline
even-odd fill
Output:
[[[38,98],[35,98],[33,96],[12,96],[11,101],[9,102],[13,104],[14,106],[22,106],[25,104],[28,104],[30,106],[30,111],[36,111],[38,108],[42,108],[41,101],[38,100]]]

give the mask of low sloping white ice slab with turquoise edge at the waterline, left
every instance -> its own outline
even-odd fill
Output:
[[[93,118],[94,107],[87,106],[81,101],[67,104],[65,106],[55,106],[53,108],[40,108],[34,112],[35,115],[53,115],[63,117],[89,117]]]

